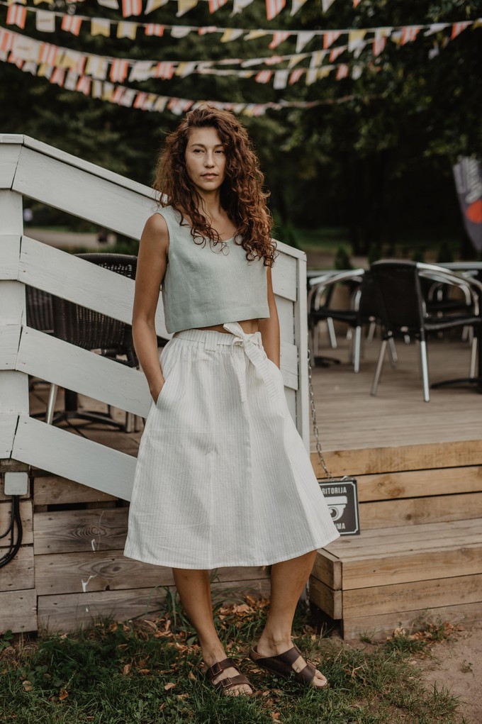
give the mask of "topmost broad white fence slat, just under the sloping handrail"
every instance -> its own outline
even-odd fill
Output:
[[[12,188],[133,239],[140,238],[145,220],[156,210],[151,190],[148,198],[25,146]]]

